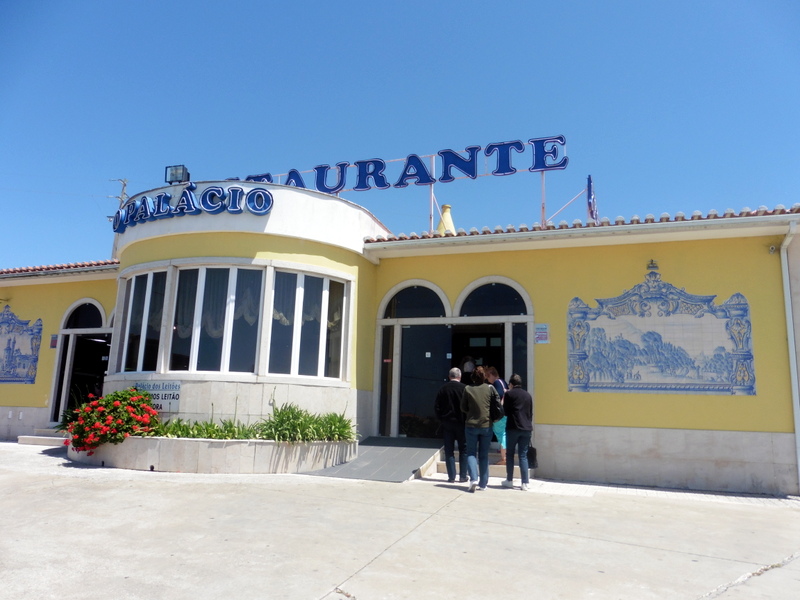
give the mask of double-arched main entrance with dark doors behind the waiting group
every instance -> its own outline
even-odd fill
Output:
[[[380,435],[438,437],[436,392],[467,356],[504,378],[519,373],[530,381],[533,315],[521,286],[500,278],[474,282],[459,297],[456,315],[429,282],[395,289],[378,320]]]

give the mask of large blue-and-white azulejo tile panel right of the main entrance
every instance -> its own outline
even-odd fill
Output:
[[[570,301],[569,390],[754,395],[750,307],[742,294],[720,305],[661,280],[591,308]]]

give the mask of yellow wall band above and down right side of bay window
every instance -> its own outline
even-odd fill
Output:
[[[375,337],[376,265],[344,248],[319,242],[268,236],[263,233],[191,233],[151,238],[125,248],[120,256],[121,268],[166,258],[196,257],[257,258],[297,262],[313,267],[334,269],[355,278],[353,314],[354,340],[351,344],[351,386],[371,390]],[[359,352],[359,349],[366,350]],[[355,357],[359,357],[358,360]]]

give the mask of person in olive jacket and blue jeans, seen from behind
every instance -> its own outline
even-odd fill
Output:
[[[483,367],[475,367],[472,385],[468,385],[461,397],[461,410],[467,436],[467,470],[469,491],[485,490],[489,483],[489,445],[492,443],[492,419],[489,403],[500,400],[493,385],[486,383]],[[480,479],[478,478],[480,475]]]

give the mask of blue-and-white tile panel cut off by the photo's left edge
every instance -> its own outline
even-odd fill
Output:
[[[42,344],[42,320],[23,321],[6,305],[0,312],[0,383],[33,383]]]

